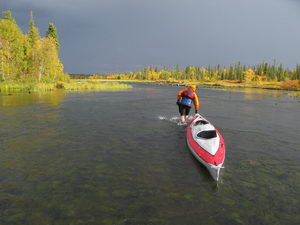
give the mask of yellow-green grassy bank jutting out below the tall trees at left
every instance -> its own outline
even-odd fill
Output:
[[[63,89],[65,91],[102,91],[127,89],[132,86],[119,82],[107,82],[99,80],[71,80],[68,82],[41,83],[41,82],[0,82],[0,92],[44,92]]]

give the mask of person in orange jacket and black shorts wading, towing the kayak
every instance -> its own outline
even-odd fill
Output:
[[[177,94],[177,105],[180,113],[180,121],[187,122],[192,104],[195,106],[195,113],[198,113],[199,100],[196,94],[196,85],[190,85],[188,88],[180,90]]]

